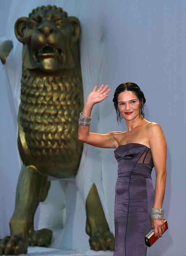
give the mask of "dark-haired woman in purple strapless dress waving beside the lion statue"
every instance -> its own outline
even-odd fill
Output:
[[[120,84],[114,93],[117,119],[125,119],[127,131],[98,134],[89,132],[94,104],[106,99],[111,89],[103,84],[89,94],[79,119],[79,140],[100,148],[116,148],[118,178],[115,197],[114,256],[144,256],[144,236],[154,227],[156,236],[164,230],[162,208],[166,183],[167,145],[159,124],[144,119],[145,97],[134,83]],[[155,192],[151,171],[155,167]]]

